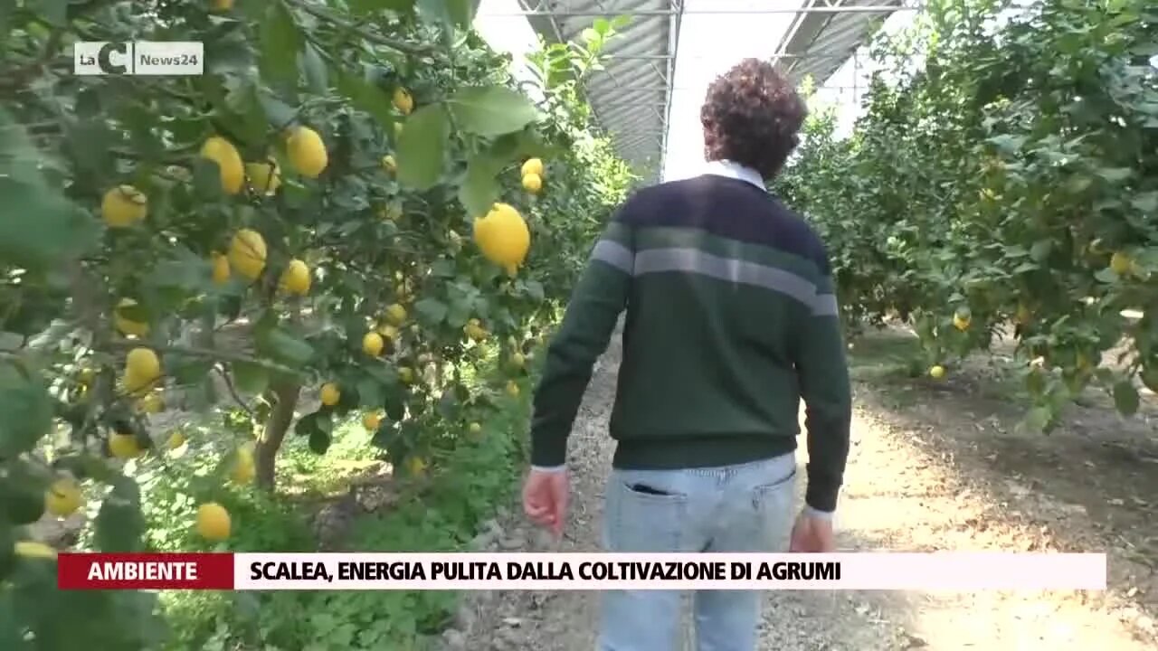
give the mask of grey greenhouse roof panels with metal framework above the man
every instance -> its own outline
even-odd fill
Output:
[[[915,8],[916,0],[799,0],[793,2],[704,2],[687,0],[519,0],[521,14],[549,42],[578,41],[598,17],[629,16],[631,22],[604,50],[606,68],[592,75],[587,95],[596,122],[620,155],[645,181],[658,181],[667,151],[667,125],[680,24],[689,14],[791,14],[770,59],[783,60],[800,80],[822,85],[849,59],[880,20]],[[726,38],[721,35],[720,38]]]

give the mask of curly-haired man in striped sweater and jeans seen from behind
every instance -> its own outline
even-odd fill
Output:
[[[769,553],[792,520],[798,409],[808,484],[792,551],[831,551],[851,400],[824,246],[764,190],[807,115],[768,63],[741,61],[701,110],[708,169],[636,192],[595,246],[535,394],[523,507],[563,529],[566,440],[626,308],[603,541],[616,553]],[[680,595],[609,591],[599,649],[669,651]],[[753,651],[760,593],[695,595],[699,651]]]

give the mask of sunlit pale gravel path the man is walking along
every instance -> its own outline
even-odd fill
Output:
[[[602,484],[611,453],[606,425],[618,358],[615,342],[595,371],[574,426],[572,512],[562,546],[529,527],[511,505],[481,534],[478,547],[599,550]],[[981,480],[961,476],[951,455],[930,447],[925,430],[897,425],[880,408],[859,407],[865,390],[858,387],[837,522],[842,550],[1056,549],[1045,527],[1021,515],[1042,509],[1064,515],[1064,505],[1017,485],[1006,488],[1025,504],[994,497]],[[802,482],[799,488],[802,500]],[[770,592],[767,602],[761,651],[1124,651],[1155,649],[1158,642],[1150,617],[1097,594]],[[591,651],[596,622],[596,593],[472,593],[456,628],[447,631],[446,646]]]

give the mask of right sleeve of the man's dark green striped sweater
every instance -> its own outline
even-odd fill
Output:
[[[816,297],[800,324],[796,368],[808,436],[805,503],[814,511],[830,513],[836,510],[849,455],[852,389],[831,270],[822,246],[815,262],[820,271]]]

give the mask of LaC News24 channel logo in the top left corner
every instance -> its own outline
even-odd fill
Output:
[[[205,73],[205,44],[196,41],[81,41],[73,50],[80,75],[190,76]]]

